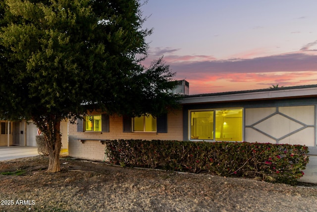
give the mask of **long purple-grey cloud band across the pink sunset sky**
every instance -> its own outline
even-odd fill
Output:
[[[294,53],[253,59],[231,59],[172,63],[173,71],[182,74],[262,73],[279,71],[317,71],[317,55]]]

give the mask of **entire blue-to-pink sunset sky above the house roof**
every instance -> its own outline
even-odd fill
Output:
[[[149,0],[149,57],[190,94],[317,84],[317,1]],[[230,14],[230,15],[226,15]]]

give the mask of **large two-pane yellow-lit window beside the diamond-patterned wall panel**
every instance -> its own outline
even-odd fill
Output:
[[[190,139],[242,141],[242,109],[191,111]]]

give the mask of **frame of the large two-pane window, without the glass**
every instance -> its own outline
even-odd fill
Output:
[[[226,107],[226,108],[206,108],[206,109],[193,109],[193,110],[188,110],[188,141],[206,141],[206,142],[216,142],[218,140],[216,140],[215,136],[216,136],[216,111],[217,110],[241,110],[242,111],[242,122],[241,122],[241,141],[238,142],[242,142],[243,141],[243,137],[244,137],[244,108],[242,107],[234,107],[234,108],[230,108],[230,107]],[[191,113],[192,112],[204,112],[204,111],[213,111],[213,129],[212,129],[212,139],[192,139],[191,138]],[[223,140],[226,141],[226,140]]]

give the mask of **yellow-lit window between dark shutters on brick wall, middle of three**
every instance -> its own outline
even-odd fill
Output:
[[[133,132],[157,132],[157,119],[152,115],[133,118]]]

